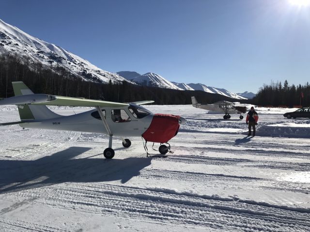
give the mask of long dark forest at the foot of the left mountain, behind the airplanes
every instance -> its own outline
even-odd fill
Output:
[[[191,104],[191,96],[199,102],[217,101],[235,102],[235,99],[220,94],[204,91],[187,91],[146,87],[124,81],[120,84],[103,84],[96,78],[87,77],[87,81],[64,69],[62,66],[44,66],[32,62],[29,58],[16,54],[0,55],[0,97],[14,96],[11,82],[23,81],[34,93],[45,93],[67,97],[84,97],[88,99],[111,102],[137,102],[153,100],[155,104]]]

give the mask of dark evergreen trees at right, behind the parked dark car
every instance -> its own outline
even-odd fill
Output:
[[[305,85],[294,84],[289,85],[288,81],[271,82],[264,84],[253,98],[252,102],[256,105],[270,106],[310,106],[310,85],[307,82]]]

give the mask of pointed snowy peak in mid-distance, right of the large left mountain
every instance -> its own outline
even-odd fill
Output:
[[[161,75],[156,73],[145,73],[140,75],[131,81],[136,82],[142,86],[152,86],[152,87],[160,87],[160,88],[171,88],[177,90],[183,90],[175,85],[173,85],[170,81],[163,78]]]

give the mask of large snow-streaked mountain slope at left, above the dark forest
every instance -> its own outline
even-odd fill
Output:
[[[0,19],[0,54],[4,53],[26,56],[29,61],[40,62],[47,67],[59,65],[84,80],[102,83],[109,83],[110,80],[112,83],[120,83],[126,80],[118,74],[104,71],[62,47],[35,38]]]

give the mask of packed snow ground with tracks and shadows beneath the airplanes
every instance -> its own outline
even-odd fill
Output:
[[[309,119],[260,109],[252,138],[239,115],[146,108],[188,120],[167,158],[141,138],[115,139],[107,160],[105,135],[0,127],[0,231],[310,231]],[[0,123],[18,120],[0,108]]]

